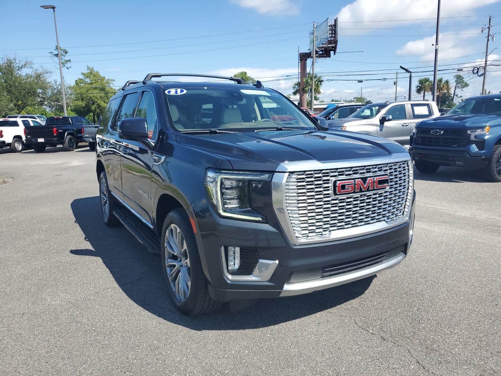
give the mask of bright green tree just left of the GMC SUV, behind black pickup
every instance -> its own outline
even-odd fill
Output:
[[[87,72],[75,81],[72,110],[79,116],[88,117],[96,123],[106,110],[108,100],[116,93],[111,86],[115,80],[101,76],[94,68],[87,66]]]

